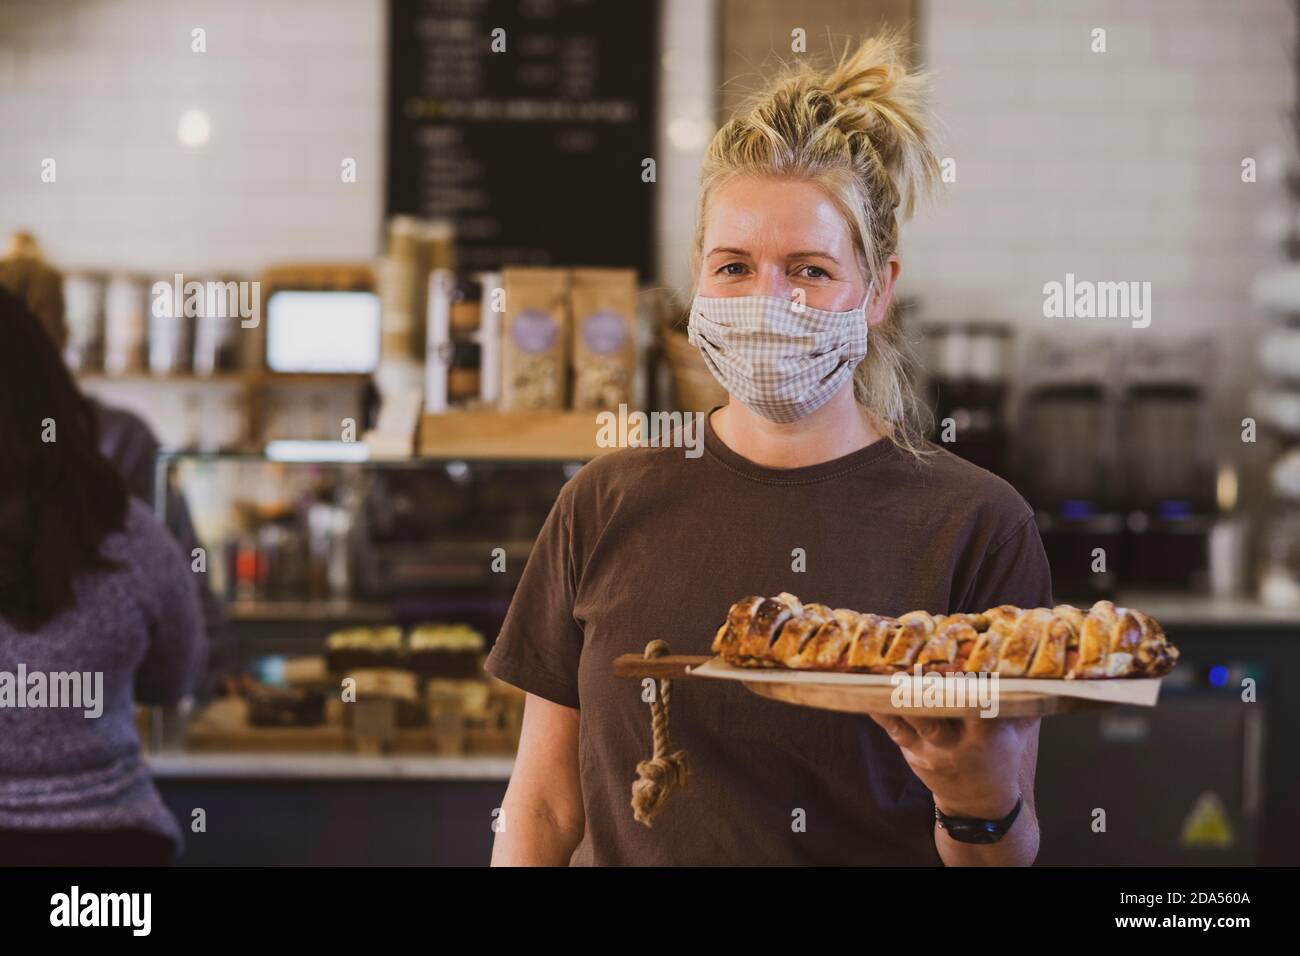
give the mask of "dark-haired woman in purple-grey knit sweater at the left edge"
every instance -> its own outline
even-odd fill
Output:
[[[204,657],[188,561],[100,453],[35,315],[0,290],[0,865],[173,858],[133,692],[174,704]]]

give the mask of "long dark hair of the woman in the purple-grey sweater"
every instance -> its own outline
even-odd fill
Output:
[[[94,407],[36,316],[0,289],[0,617],[34,631],[75,602],[79,572],[116,567],[100,548],[127,501]]]

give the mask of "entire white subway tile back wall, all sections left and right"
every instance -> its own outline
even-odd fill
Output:
[[[668,3],[664,121],[685,131],[666,152],[696,146],[684,121],[710,127],[711,98],[688,100],[711,57],[679,49],[708,30],[690,7]],[[1286,0],[930,0],[919,20],[958,173],[905,230],[905,287],[927,312],[1034,323],[1041,284],[1067,271],[1158,282],[1179,323],[1243,303],[1278,255],[1262,220],[1280,185],[1242,183],[1240,160],[1286,143]],[[190,51],[196,27],[207,53]],[[6,0],[0,230],[35,229],[69,267],[164,274],[377,254],[384,31],[372,0]],[[211,117],[202,150],[178,142],[191,108]],[[670,179],[663,261],[680,284],[694,183]]]

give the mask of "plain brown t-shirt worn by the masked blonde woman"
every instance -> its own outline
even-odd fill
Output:
[[[632,782],[653,750],[650,709],[641,682],[611,670],[656,637],[672,653],[708,654],[728,607],[749,594],[888,615],[1050,606],[1024,499],[944,449],[927,462],[880,440],[770,468],[706,427],[698,458],[624,449],[564,485],[488,670],[581,711],[586,834],[573,864],[940,862],[930,791],[870,717],[727,682],[673,683],[671,745],[688,754],[690,786],[651,829],[637,823]]]

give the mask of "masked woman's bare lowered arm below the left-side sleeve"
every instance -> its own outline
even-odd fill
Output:
[[[519,756],[491,849],[493,866],[567,866],[582,839],[578,711],[528,695]]]

